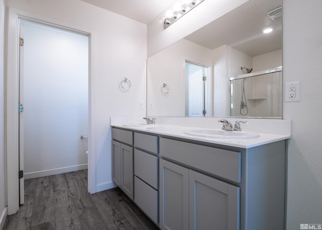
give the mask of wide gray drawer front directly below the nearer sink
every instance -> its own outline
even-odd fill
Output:
[[[159,140],[160,156],[235,182],[241,180],[241,153],[167,138]]]

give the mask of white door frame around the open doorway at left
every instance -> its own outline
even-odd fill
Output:
[[[6,69],[6,152],[7,152],[7,201],[8,214],[19,210],[19,24],[20,19],[47,24],[58,28],[89,36],[89,158],[88,158],[88,191],[96,192],[96,121],[95,106],[95,66],[96,66],[96,32],[78,25],[40,16],[20,9],[9,8],[8,46]]]

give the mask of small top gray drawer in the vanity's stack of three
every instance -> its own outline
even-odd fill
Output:
[[[156,136],[151,136],[151,135],[141,134],[141,133],[134,133],[134,146],[157,154],[158,153],[157,139],[158,137]]]

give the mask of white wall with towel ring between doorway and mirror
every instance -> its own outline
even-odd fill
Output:
[[[96,141],[96,190],[113,186],[110,117],[141,116],[146,102],[146,25],[78,0],[12,0],[8,7],[88,28],[96,36],[95,76],[92,77],[92,124]],[[127,77],[132,87],[121,90]]]

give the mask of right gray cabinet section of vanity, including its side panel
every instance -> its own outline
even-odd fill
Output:
[[[160,138],[160,228],[284,229],[285,148]]]

